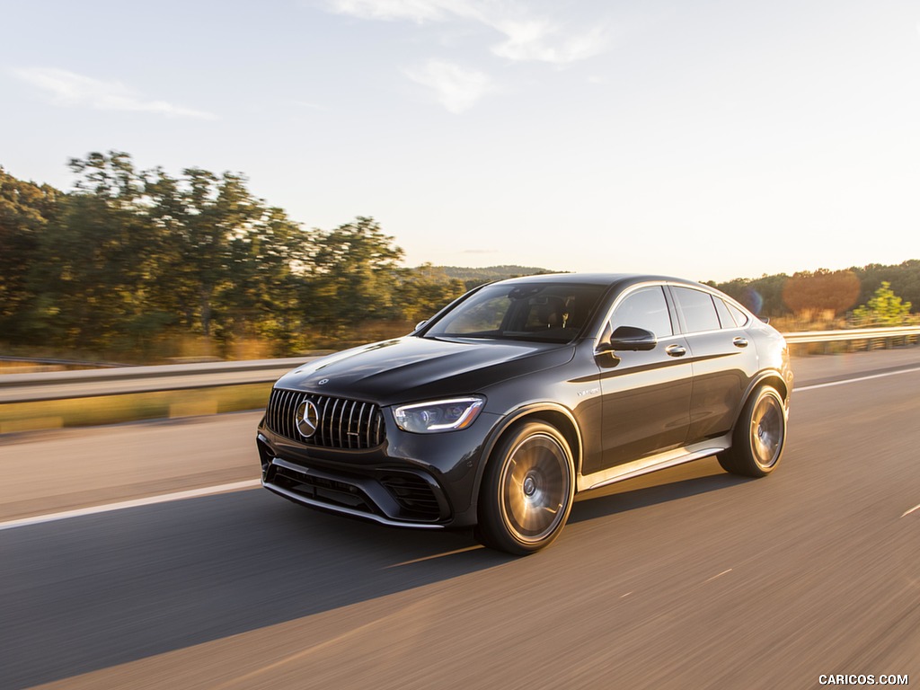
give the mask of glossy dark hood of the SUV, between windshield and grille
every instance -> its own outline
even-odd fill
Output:
[[[276,384],[378,405],[468,395],[490,385],[569,362],[575,349],[558,343],[385,340],[309,362]]]

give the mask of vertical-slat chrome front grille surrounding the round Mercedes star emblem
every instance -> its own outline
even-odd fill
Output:
[[[316,432],[311,436],[297,429],[297,408],[305,400],[316,405],[319,412]],[[285,438],[322,448],[362,450],[375,448],[385,440],[383,415],[374,403],[283,388],[271,391],[265,423]]]

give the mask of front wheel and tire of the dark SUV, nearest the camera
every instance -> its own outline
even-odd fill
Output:
[[[552,544],[569,519],[575,469],[569,443],[554,427],[512,429],[489,459],[479,493],[477,538],[525,556]]]

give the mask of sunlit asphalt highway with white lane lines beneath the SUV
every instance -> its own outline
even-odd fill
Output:
[[[0,688],[920,684],[920,351],[797,374],[773,476],[615,485],[529,558],[263,489],[3,529],[255,478],[258,415],[0,439]]]

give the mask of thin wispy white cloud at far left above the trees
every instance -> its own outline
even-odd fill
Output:
[[[11,70],[14,76],[36,86],[53,105],[65,108],[153,112],[167,117],[214,120],[208,112],[183,108],[164,100],[149,100],[120,82],[103,81],[53,67]]]

